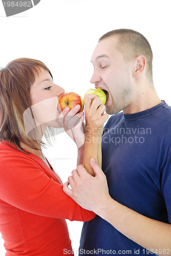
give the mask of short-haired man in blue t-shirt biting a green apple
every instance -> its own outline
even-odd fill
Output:
[[[171,253],[171,108],[155,91],[152,60],[146,38],[128,29],[106,33],[93,52],[91,82],[106,91],[106,113],[118,114],[102,136],[109,192],[93,159],[95,177],[80,165],[72,190],[63,186],[97,214],[83,224],[80,254]]]

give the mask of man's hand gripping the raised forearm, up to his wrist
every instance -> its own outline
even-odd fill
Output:
[[[94,170],[95,177],[87,173],[83,165],[78,165],[72,171],[72,176],[63,185],[63,191],[84,209],[94,211],[96,214],[100,208],[110,199],[108,183],[102,169],[91,158],[90,164]],[[71,185],[70,189],[68,185]]]

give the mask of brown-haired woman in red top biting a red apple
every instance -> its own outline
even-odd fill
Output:
[[[41,151],[47,128],[63,126],[79,144],[78,163],[83,162],[84,116],[76,114],[79,106],[57,111],[62,93],[41,61],[20,58],[0,71],[0,231],[8,256],[66,254],[72,247],[65,219],[95,217],[62,191]]]

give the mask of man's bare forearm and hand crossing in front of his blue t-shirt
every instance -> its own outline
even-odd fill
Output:
[[[69,177],[72,190],[65,183],[63,191],[81,207],[94,211],[142,247],[158,255],[171,254],[171,225],[149,219],[112,199],[101,168],[93,159],[90,164],[95,177],[79,165]]]

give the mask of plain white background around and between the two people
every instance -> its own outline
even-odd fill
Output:
[[[170,0],[41,0],[11,17],[5,16],[0,2],[0,68],[18,57],[39,59],[51,70],[56,84],[83,96],[94,87],[90,59],[98,38],[113,29],[134,29],[152,46],[155,88],[171,105],[170,27]],[[74,142],[61,134],[45,155],[62,181],[67,181],[76,167]],[[67,222],[73,249],[78,250],[82,223]],[[0,239],[0,256],[4,255]]]

